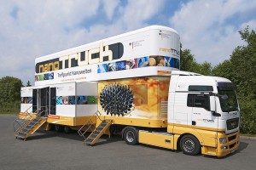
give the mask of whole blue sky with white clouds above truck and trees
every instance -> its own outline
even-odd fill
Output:
[[[212,65],[256,30],[256,0],[0,0],[0,77],[34,82],[34,60],[144,26],[177,30],[183,49]]]

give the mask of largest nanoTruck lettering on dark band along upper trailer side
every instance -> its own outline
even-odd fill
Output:
[[[92,65],[120,59],[124,54],[124,45],[121,42],[84,50],[79,53],[68,54],[55,59],[49,59],[36,64],[36,73],[48,71],[58,71],[61,69],[72,68],[76,66]]]

